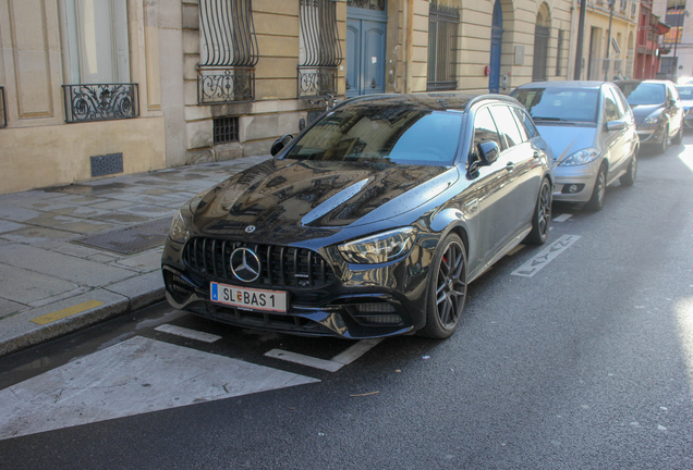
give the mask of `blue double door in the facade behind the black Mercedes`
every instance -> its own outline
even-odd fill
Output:
[[[385,12],[346,9],[346,97],[385,92]]]

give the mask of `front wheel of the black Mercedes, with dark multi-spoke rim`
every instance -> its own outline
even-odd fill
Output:
[[[466,300],[466,250],[460,237],[448,234],[430,263],[426,298],[426,326],[418,333],[436,339],[452,335]]]

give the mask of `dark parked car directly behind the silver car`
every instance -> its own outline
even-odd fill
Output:
[[[683,103],[673,82],[616,81],[635,115],[640,143],[654,145],[664,153],[683,138]]]

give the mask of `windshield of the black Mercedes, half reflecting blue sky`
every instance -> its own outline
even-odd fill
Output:
[[[368,103],[338,108],[287,153],[289,159],[451,165],[462,115]]]

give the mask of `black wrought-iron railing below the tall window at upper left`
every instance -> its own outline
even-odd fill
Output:
[[[65,122],[92,122],[139,116],[137,84],[63,85]]]

